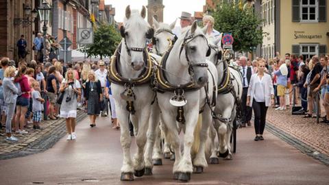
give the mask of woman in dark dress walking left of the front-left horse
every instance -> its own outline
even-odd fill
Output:
[[[86,82],[85,97],[87,100],[87,110],[90,118],[90,127],[96,126],[96,118],[101,113],[99,109],[100,102],[103,101],[101,82],[97,79],[94,71],[89,71]]]

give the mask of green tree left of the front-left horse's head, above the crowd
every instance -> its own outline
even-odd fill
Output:
[[[100,56],[101,59],[112,56],[120,40],[121,36],[113,25],[101,23],[94,33],[93,45],[86,46],[86,53],[88,57]]]

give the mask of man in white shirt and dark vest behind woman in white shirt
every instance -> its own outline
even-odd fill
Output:
[[[252,119],[252,108],[249,106],[246,106],[247,103],[247,93],[248,93],[248,87],[250,78],[252,77],[252,74],[254,74],[254,71],[252,70],[251,66],[247,66],[247,58],[245,56],[240,57],[240,63],[241,63],[241,75],[242,75],[242,125],[241,127],[245,127],[245,124],[247,123],[248,126],[251,126],[250,120]]]

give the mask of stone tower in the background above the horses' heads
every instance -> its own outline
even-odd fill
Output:
[[[164,5],[162,0],[148,0],[147,3],[147,22],[152,25],[152,17],[156,18],[156,21],[163,22],[163,9]]]

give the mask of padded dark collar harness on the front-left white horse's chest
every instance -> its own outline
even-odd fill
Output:
[[[138,52],[143,52],[143,58],[145,62],[145,68],[138,75],[137,78],[125,78],[119,73],[119,62],[120,62],[120,53],[122,47],[122,42],[117,47],[117,50],[114,52],[112,60],[110,61],[109,70],[108,70],[108,79],[110,82],[114,84],[119,84],[121,86],[125,86],[125,90],[121,93],[121,98],[125,99],[127,102],[126,109],[130,114],[134,114],[134,101],[136,100],[136,95],[134,94],[134,87],[135,86],[143,86],[149,84],[151,82],[152,71],[154,68],[154,64],[149,57],[147,49],[141,50],[138,49]],[[126,45],[127,47],[127,45]],[[134,48],[130,48],[132,51],[137,51]]]

